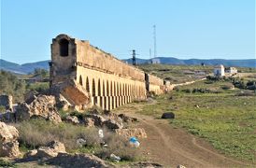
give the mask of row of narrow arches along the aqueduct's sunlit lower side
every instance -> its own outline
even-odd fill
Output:
[[[135,99],[145,99],[146,89],[143,83],[123,82],[114,79],[79,76],[79,84],[90,92],[92,105],[103,109],[113,109],[120,105],[133,102]]]

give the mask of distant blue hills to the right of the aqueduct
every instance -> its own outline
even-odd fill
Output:
[[[156,59],[160,60],[160,63],[163,64],[184,64],[184,65],[196,65],[205,63],[206,65],[215,65],[223,64],[224,66],[239,66],[239,67],[256,67],[256,59],[248,60],[223,60],[223,59],[211,59],[211,60],[201,60],[201,59],[189,59],[189,60],[180,60],[173,57],[157,57]],[[151,63],[152,59],[136,59],[136,63]],[[123,60],[127,63],[133,63],[132,59]]]

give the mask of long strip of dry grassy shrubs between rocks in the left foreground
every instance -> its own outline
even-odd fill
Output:
[[[37,148],[46,146],[50,141],[58,140],[64,143],[68,152],[92,152],[102,159],[109,159],[113,153],[122,161],[135,161],[139,156],[138,149],[130,147],[129,139],[124,139],[116,133],[104,130],[104,138],[100,138],[97,128],[69,123],[53,124],[44,119],[30,119],[14,125],[19,133],[21,147]],[[78,138],[86,140],[86,147],[78,147]],[[103,142],[107,147],[102,147]]]

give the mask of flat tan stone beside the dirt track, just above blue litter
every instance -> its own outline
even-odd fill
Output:
[[[117,129],[115,130],[115,132],[125,138],[130,138],[133,136],[136,138],[147,138],[147,133],[143,128]]]

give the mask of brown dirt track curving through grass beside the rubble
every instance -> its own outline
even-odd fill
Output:
[[[140,120],[136,127],[144,128],[148,138],[141,140],[141,149],[149,161],[176,167],[245,167],[249,164],[227,158],[218,153],[206,141],[174,128],[164,119],[152,119],[134,113],[128,116]],[[249,166],[253,167],[253,166]]]

